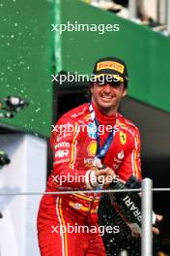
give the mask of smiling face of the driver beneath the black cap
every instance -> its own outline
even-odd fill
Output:
[[[121,99],[127,95],[124,82],[99,84],[97,81],[91,87],[92,102],[100,112],[112,115],[117,112]]]

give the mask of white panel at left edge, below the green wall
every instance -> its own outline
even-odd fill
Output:
[[[13,194],[0,196],[0,255],[39,256],[37,213],[42,195],[29,193],[45,190],[46,141],[22,133],[1,134],[0,148],[11,159],[0,169],[0,193]]]

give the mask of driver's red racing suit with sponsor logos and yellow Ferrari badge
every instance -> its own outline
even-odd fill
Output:
[[[103,160],[105,166],[114,170],[121,181],[128,180],[131,175],[141,178],[140,139],[136,126],[120,113],[115,117],[104,116],[92,105],[83,104],[65,113],[53,127],[54,165],[46,191],[97,187],[93,178],[97,138],[89,129],[95,116],[103,125],[100,145],[109,133],[107,125],[114,126],[114,139]],[[42,256],[105,255],[98,226],[99,197],[97,193],[43,195],[38,214]],[[78,231],[80,226],[84,227],[83,231]]]

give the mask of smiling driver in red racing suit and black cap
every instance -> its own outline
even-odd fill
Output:
[[[116,57],[99,59],[94,78],[90,103],[65,113],[52,131],[54,164],[46,189],[89,193],[42,196],[38,214],[42,256],[105,256],[98,226],[100,195],[90,190],[105,188],[116,176],[123,182],[131,175],[141,179],[138,129],[117,112],[127,95],[127,66]]]

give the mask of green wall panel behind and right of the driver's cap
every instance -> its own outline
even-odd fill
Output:
[[[148,27],[103,12],[81,1],[62,1],[62,23],[120,24],[119,32],[67,32],[62,36],[62,69],[91,74],[104,56],[128,64],[128,96],[170,112],[170,39]]]

